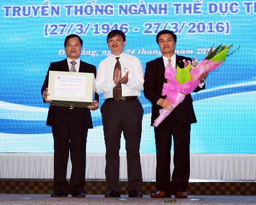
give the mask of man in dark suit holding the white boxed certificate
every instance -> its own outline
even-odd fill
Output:
[[[80,60],[82,42],[82,39],[75,34],[66,37],[64,45],[67,59],[50,64],[41,88],[44,102],[51,102],[47,99],[50,95],[48,93],[49,71],[93,73],[96,77],[96,67]],[[52,126],[54,139],[54,192],[51,197],[63,197],[69,194],[73,197],[86,196],[84,184],[87,133],[89,128],[93,128],[90,110],[98,108],[98,99],[98,94],[95,94],[93,104],[87,108],[52,105],[49,107],[46,124]],[[69,151],[72,162],[70,184],[66,179]]]

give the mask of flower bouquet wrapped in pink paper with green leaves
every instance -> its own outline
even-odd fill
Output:
[[[209,73],[211,71],[215,71],[219,69],[227,56],[232,55],[235,51],[231,52],[229,55],[228,52],[233,44],[219,45],[216,49],[213,47],[210,49],[206,58],[200,62],[195,59],[190,61],[185,61],[184,69],[180,69],[177,66],[175,67],[166,66],[164,76],[167,79],[167,83],[164,83],[162,89],[162,95],[167,97],[165,99],[172,100],[174,103],[172,104],[173,108],[170,110],[160,109],[160,116],[155,120],[154,126],[157,127],[173,109],[180,104],[186,94],[193,92],[193,90],[200,84],[199,77],[202,74]]]

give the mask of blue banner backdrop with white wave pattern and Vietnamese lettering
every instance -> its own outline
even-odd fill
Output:
[[[0,3],[0,152],[53,152],[48,103],[40,94],[50,62],[66,58],[63,42],[78,34],[81,59],[96,67],[110,55],[106,35],[126,34],[125,53],[145,63],[161,53],[156,34],[177,34],[176,53],[202,60],[219,44],[240,49],[193,94],[198,119],[191,153],[256,153],[255,1],[17,1]],[[151,103],[144,98],[141,153],[155,153]],[[100,105],[103,102],[100,95]],[[92,112],[87,152],[104,153],[100,110]],[[124,140],[120,152],[125,153]]]

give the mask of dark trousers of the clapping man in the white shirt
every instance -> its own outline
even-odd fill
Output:
[[[127,191],[141,190],[140,140],[143,108],[139,100],[105,101],[101,106],[106,146],[105,177],[108,190],[121,192],[119,183],[119,150],[123,131],[127,157]]]

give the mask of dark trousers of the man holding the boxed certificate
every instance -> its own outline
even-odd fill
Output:
[[[52,126],[54,139],[54,192],[62,192],[65,195],[85,192],[88,129],[82,128],[81,123],[77,122],[77,110],[73,109],[69,112],[67,123]],[[66,179],[69,151],[72,163],[70,185]]]

